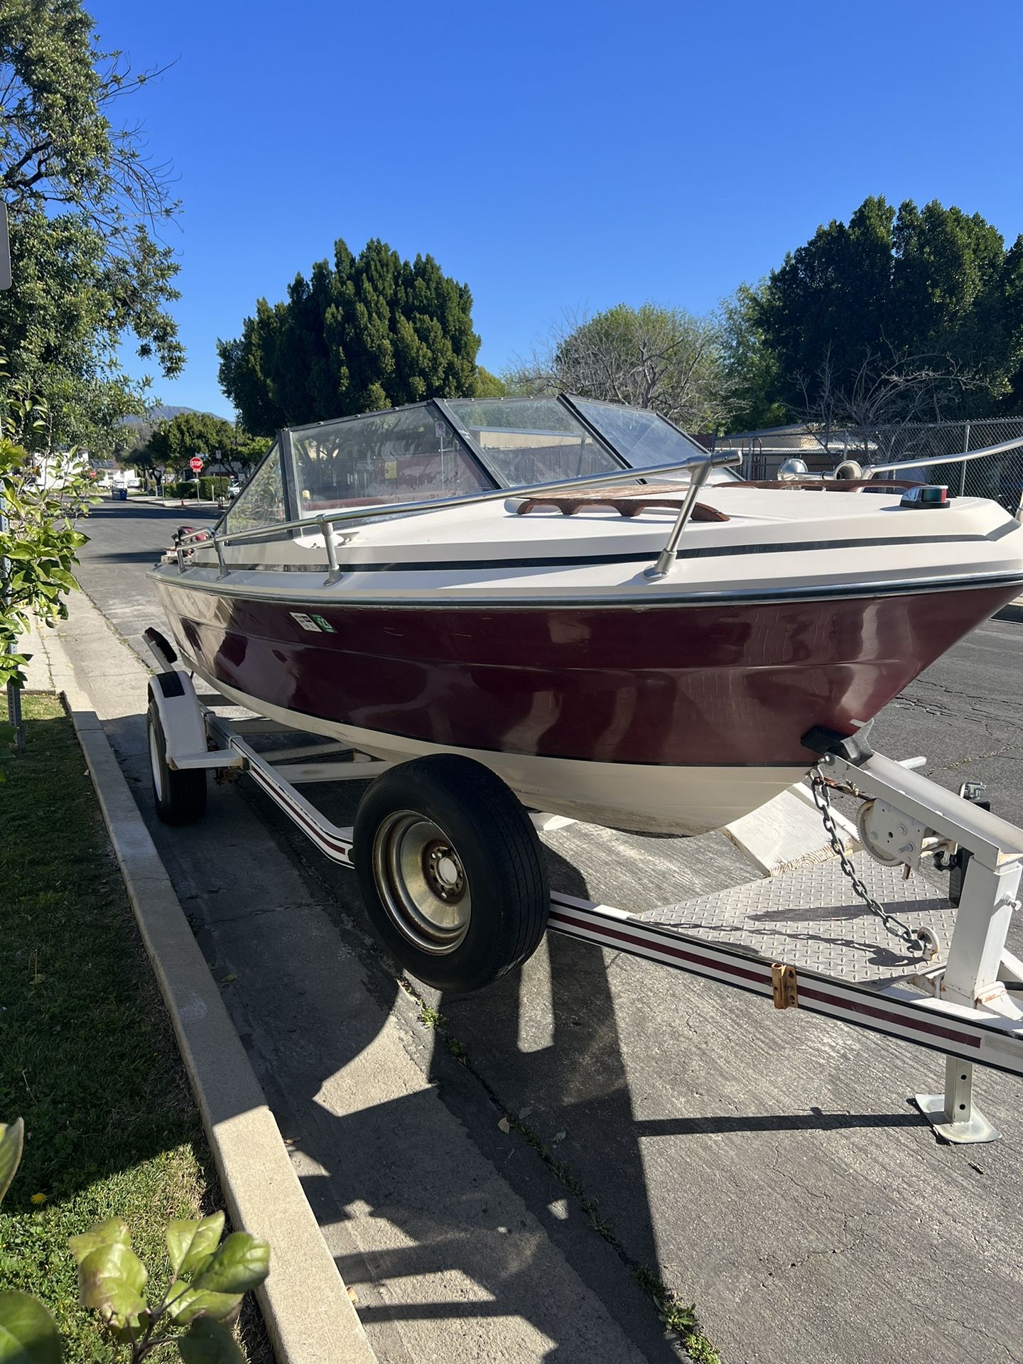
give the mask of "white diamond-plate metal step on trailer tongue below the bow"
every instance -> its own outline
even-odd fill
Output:
[[[937,934],[943,951],[928,966],[944,962],[956,911],[937,888],[915,873],[903,880],[902,866],[881,866],[868,857],[858,857],[855,865],[878,904],[910,928]],[[888,983],[913,975],[921,964],[857,899],[837,858],[636,917],[858,985]]]

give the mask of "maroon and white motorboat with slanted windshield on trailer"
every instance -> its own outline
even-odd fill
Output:
[[[720,460],[644,409],[431,398],[281,431],[151,576],[187,668],[256,715],[387,762],[462,754],[532,810],[704,833],[1023,585],[996,502]]]

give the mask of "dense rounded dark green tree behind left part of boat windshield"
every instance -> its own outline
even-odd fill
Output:
[[[479,337],[472,295],[432,256],[402,261],[374,240],[296,276],[286,303],[256,303],[241,336],[218,341],[220,383],[258,435],[284,426],[472,396]]]

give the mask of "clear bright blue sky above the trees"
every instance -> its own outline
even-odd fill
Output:
[[[338,237],[466,282],[499,372],[566,315],[707,312],[869,194],[1023,232],[1019,0],[86,7],[172,63],[121,106],[183,201],[168,404],[231,416],[217,338]]]

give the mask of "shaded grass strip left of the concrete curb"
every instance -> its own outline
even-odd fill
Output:
[[[65,1364],[104,1364],[123,1356],[78,1305],[68,1236],[124,1217],[160,1290],[165,1224],[220,1191],[71,722],[52,696],[23,711],[0,783],[0,1121],[26,1124],[0,1286],[46,1303]]]

